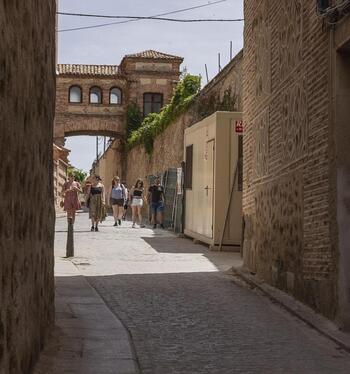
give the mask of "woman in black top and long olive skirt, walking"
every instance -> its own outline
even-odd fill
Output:
[[[106,218],[105,187],[98,175],[92,177],[91,186],[88,187],[88,200],[91,231],[98,231],[98,223]]]

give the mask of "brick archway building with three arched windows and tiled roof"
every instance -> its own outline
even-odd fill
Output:
[[[127,55],[117,65],[58,65],[54,137],[63,144],[65,136],[125,135],[126,111],[136,103],[143,112],[144,94],[162,95],[169,102],[180,76],[182,58],[156,51]],[[81,91],[81,100],[71,102],[70,88]],[[91,88],[99,88],[101,100],[90,102]],[[120,90],[117,103],[110,100],[111,90]]]

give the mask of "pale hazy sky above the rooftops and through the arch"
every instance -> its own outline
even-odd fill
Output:
[[[210,1],[213,2],[214,0]],[[153,16],[178,9],[207,4],[208,0],[59,0],[59,11],[104,15]],[[173,18],[243,18],[243,0],[226,0],[220,4],[169,15]],[[59,30],[97,25],[118,20],[59,16]],[[202,75],[206,83],[205,64],[209,79],[243,47],[243,22],[173,23],[141,20],[103,28],[60,32],[58,62],[61,64],[119,65],[129,53],[154,49],[184,57],[182,69]],[[65,146],[71,150],[70,161],[88,171],[96,154],[96,138],[68,137]]]

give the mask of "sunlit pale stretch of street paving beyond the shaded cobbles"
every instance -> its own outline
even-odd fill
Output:
[[[87,276],[115,274],[168,274],[217,272],[241,264],[238,253],[211,252],[188,239],[162,229],[132,228],[130,221],[113,226],[112,217],[90,232],[87,214],[74,225],[73,263]],[[65,256],[67,223],[57,220],[56,256]]]

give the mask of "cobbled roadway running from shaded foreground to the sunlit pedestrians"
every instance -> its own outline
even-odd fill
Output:
[[[130,331],[141,373],[350,373],[348,353],[223,272],[238,255],[129,222],[90,233],[81,215],[75,229],[74,263]]]

